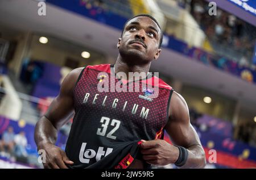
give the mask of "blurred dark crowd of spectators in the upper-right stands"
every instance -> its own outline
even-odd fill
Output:
[[[251,53],[254,51],[256,39],[256,34],[251,33],[256,32],[256,28],[253,25],[221,9],[217,9],[216,16],[209,16],[207,14],[209,10],[207,1],[176,1],[179,4],[184,3],[184,6],[191,6],[193,18],[195,18],[201,29],[205,31],[210,42],[217,43],[217,45],[214,45],[215,48],[224,45],[222,47],[228,48],[230,53],[233,53],[233,55],[229,54],[229,56],[232,56],[236,61],[240,61],[242,55],[247,60],[251,60],[253,56]],[[219,49],[216,49],[216,51],[220,53]],[[241,56],[237,56],[237,53]]]

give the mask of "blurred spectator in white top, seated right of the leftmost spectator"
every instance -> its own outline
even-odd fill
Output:
[[[27,157],[27,138],[24,131],[20,131],[18,135],[14,137],[15,143],[15,156],[16,157]]]

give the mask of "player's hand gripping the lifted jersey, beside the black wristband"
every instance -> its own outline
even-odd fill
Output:
[[[165,140],[141,141],[142,157],[148,164],[159,166],[174,164],[179,157],[179,149]]]

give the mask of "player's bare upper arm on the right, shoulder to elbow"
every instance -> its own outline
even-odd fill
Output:
[[[199,137],[189,120],[187,103],[175,92],[171,99],[170,111],[171,115],[165,129],[172,142],[185,148],[200,144]]]

